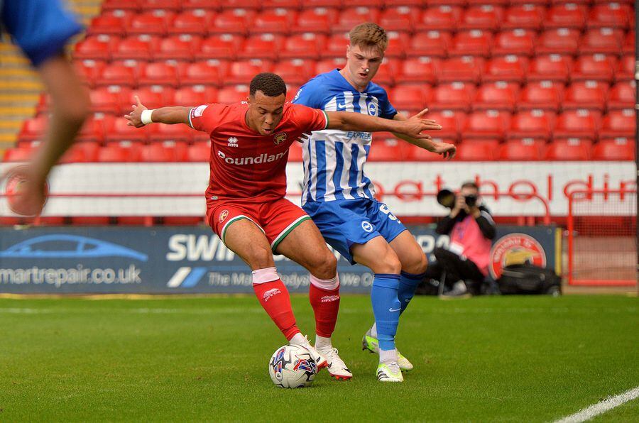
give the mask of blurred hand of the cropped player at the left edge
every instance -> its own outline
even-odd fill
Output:
[[[0,176],[11,212],[22,216],[37,216],[47,200],[46,180],[40,179],[31,165],[20,165]]]

